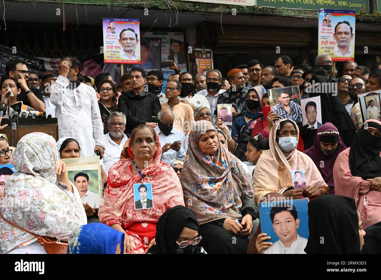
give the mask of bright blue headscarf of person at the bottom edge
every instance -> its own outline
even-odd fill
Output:
[[[69,236],[68,254],[115,254],[124,251],[124,234],[100,223],[75,228]]]

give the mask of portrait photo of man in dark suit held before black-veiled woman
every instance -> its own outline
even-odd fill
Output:
[[[302,99],[303,126],[308,123],[308,128],[317,129],[322,126],[322,110],[320,96]]]

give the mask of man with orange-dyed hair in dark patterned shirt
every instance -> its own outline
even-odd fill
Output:
[[[226,76],[232,86],[230,90],[225,91],[219,96],[218,104],[233,104],[240,115],[245,110],[245,101],[249,88],[245,87],[245,78],[241,69],[231,69],[227,72]]]

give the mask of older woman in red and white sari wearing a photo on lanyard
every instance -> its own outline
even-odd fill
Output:
[[[156,223],[166,210],[184,206],[181,183],[173,168],[160,162],[162,147],[155,130],[137,126],[121,159],[109,169],[99,220],[125,232],[125,253],[145,254],[155,244]],[[134,184],[152,184],[153,208],[135,210]]]

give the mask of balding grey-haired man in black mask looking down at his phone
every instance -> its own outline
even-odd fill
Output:
[[[157,114],[158,124],[155,128],[159,136],[160,143],[162,143],[162,162],[169,163],[171,160],[178,158],[184,161],[185,149],[184,139],[185,135],[181,130],[173,128],[175,115],[172,110],[166,108],[160,110]],[[174,144],[175,141],[181,141],[179,144]]]

